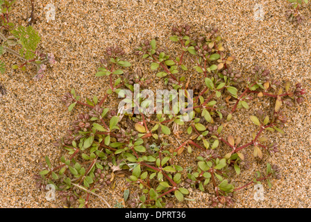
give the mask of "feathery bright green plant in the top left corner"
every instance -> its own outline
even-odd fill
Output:
[[[12,65],[12,69],[26,70],[26,65],[34,65],[37,68],[35,78],[42,78],[47,63],[53,65],[56,61],[52,53],[42,53],[38,49],[40,36],[32,26],[18,26],[10,21],[10,12],[16,0],[0,0],[0,56],[10,53],[23,60],[19,65]],[[33,2],[32,2],[33,6]],[[33,13],[33,12],[31,12]],[[14,47],[14,49],[13,49]],[[15,51],[17,49],[18,51]],[[6,64],[0,61],[0,72],[4,74]]]

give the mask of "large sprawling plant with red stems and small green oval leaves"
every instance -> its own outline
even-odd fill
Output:
[[[45,157],[44,169],[35,176],[37,187],[55,185],[67,207],[74,207],[76,203],[79,207],[88,207],[90,195],[95,195],[98,189],[114,187],[115,177],[121,173],[128,175],[128,186],[141,189],[140,193],[124,193],[128,207],[173,207],[173,198],[188,200],[190,187],[209,192],[211,207],[230,207],[239,189],[262,182],[271,187],[271,180],[280,178],[280,167],[269,162],[265,163],[264,173],[256,171],[253,180],[242,187],[236,187],[232,173],[242,175],[249,169],[252,158],[247,157],[246,148],[251,148],[253,157],[259,160],[278,151],[278,144],[269,142],[267,135],[284,133],[287,118],[283,108],[302,103],[305,89],[300,83],[293,86],[288,81],[282,87],[283,84],[271,79],[270,71],[262,67],[254,67],[251,76],[242,78],[242,74],[230,67],[235,57],[225,51],[217,28],[208,29],[204,35],[190,33],[190,30],[188,24],[172,28],[170,40],[180,44],[180,56],[169,56],[155,40],[142,41],[135,55],[148,61],[151,70],[156,71],[155,76],[162,78],[163,85],[169,89],[187,89],[189,74],[198,72],[203,84],[192,83],[196,94],[193,106],[185,103],[185,108],[174,114],[153,115],[141,110],[136,114],[106,108],[108,96],[120,93],[124,87],[133,92],[134,83],[146,87],[153,79],[144,76],[141,70],[129,70],[131,63],[122,58],[121,48],[108,47],[106,58],[101,59],[101,67],[95,74],[108,78],[106,94],[101,99],[96,95],[86,98],[86,102],[81,101],[74,89],[63,96],[69,111],[78,104],[90,108],[90,112],[78,114],[66,135],[57,139],[55,146],[68,155],[60,158],[62,164],[57,167]],[[189,64],[186,58],[192,67],[186,66]],[[191,99],[188,91],[184,92]],[[235,112],[249,110],[253,96],[274,100],[269,107],[249,116],[257,130],[243,138],[226,133],[226,125]],[[144,102],[143,98],[139,99],[140,103]],[[137,105],[135,101],[131,103],[132,107]],[[183,121],[183,113],[190,109],[192,119]],[[185,140],[180,146],[168,144],[165,135],[178,137],[178,128],[185,129]],[[196,167],[184,168],[177,164],[183,153],[192,153],[194,148],[201,152],[193,160]],[[117,202],[115,207],[119,206]]]

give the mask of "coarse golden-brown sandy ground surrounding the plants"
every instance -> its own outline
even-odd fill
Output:
[[[49,23],[44,9],[48,3],[56,7],[56,19]],[[262,3],[262,21],[253,17],[255,3]],[[237,58],[234,69],[247,76],[254,65],[264,65],[274,78],[303,83],[310,92],[310,7],[309,3],[301,10],[305,23],[294,26],[285,17],[287,3],[280,0],[36,1],[37,22],[33,26],[42,36],[40,49],[54,53],[57,63],[49,67],[42,80],[35,81],[34,68],[12,71],[10,65],[20,61],[6,56],[8,71],[0,76],[0,83],[7,90],[0,99],[0,207],[62,207],[58,200],[48,201],[43,191],[35,189],[32,176],[40,170],[38,163],[44,155],[58,163],[64,152],[53,142],[64,135],[75,114],[83,111],[77,108],[69,113],[60,103],[61,96],[71,88],[83,98],[103,96],[106,82],[94,74],[106,46],[119,44],[128,53],[128,61],[140,65],[131,53],[142,38],[158,37],[159,44],[169,49],[172,24],[188,22],[199,32],[204,26],[215,24],[226,49]],[[26,25],[30,8],[30,1],[18,1],[12,11],[13,21]],[[262,105],[255,104],[256,101],[246,115]],[[269,161],[283,168],[282,180],[274,180],[271,189],[264,185],[263,201],[253,200],[253,187],[242,189],[236,195],[235,207],[311,207],[310,112],[310,93],[303,105],[285,109],[289,117],[286,134],[272,135],[280,153],[253,162],[249,171],[234,179],[238,186],[244,185],[255,170],[264,170],[262,165]],[[234,136],[249,134],[251,122],[246,117],[243,111],[238,112],[233,119],[237,124],[228,126]],[[116,200],[121,201],[124,189],[124,179],[118,178],[115,189],[98,194],[114,205]],[[198,201],[180,206],[207,207],[208,195],[193,191],[190,198]],[[91,202],[90,207],[106,207],[99,198],[92,197]]]

